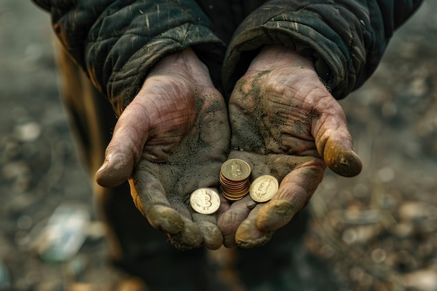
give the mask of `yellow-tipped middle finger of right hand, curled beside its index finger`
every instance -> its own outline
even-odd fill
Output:
[[[265,207],[265,204],[258,204],[237,228],[237,232],[235,233],[235,243],[240,248],[253,248],[255,246],[262,246],[272,238],[272,231],[260,230],[255,225],[258,212],[263,207]]]

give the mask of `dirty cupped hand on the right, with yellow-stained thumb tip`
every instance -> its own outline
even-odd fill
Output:
[[[255,206],[249,195],[218,219],[224,245],[251,248],[269,241],[309,202],[326,165],[345,177],[360,173],[346,117],[311,60],[268,46],[237,82],[229,104],[231,153],[251,165],[251,179],[279,180],[272,200]]]

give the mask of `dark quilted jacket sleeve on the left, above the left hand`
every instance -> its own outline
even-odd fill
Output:
[[[50,12],[68,53],[121,114],[159,59],[195,47],[219,58],[223,43],[193,0],[34,0]]]

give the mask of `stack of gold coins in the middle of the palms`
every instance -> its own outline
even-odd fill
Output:
[[[228,200],[240,200],[249,193],[251,166],[238,158],[231,158],[221,165],[220,184]]]

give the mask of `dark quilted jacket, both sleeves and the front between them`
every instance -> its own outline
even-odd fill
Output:
[[[421,0],[34,2],[51,13],[61,43],[120,114],[149,68],[186,47],[228,94],[262,45],[286,45],[311,57],[333,96],[343,98],[370,77]]]

